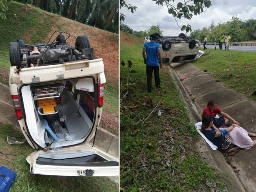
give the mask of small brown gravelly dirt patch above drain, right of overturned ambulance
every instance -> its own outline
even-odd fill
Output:
[[[118,117],[115,115],[103,111],[100,122],[102,128],[118,131]]]

